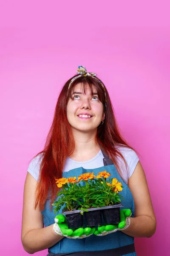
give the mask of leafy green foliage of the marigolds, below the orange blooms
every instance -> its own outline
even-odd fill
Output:
[[[54,212],[58,212],[61,207],[65,210],[88,211],[89,208],[111,206],[119,204],[122,195],[114,192],[113,186],[108,186],[106,178],[94,178],[79,181],[79,183],[65,183],[62,189],[57,193],[57,201],[52,204]]]

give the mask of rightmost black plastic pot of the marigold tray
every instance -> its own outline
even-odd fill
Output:
[[[122,204],[102,207],[102,215],[106,225],[119,224],[120,222],[120,207]]]

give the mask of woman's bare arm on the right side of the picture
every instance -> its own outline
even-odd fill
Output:
[[[135,203],[135,216],[130,218],[130,226],[122,232],[133,237],[151,237],[156,231],[156,218],[147,180],[140,162],[128,180],[128,186]]]

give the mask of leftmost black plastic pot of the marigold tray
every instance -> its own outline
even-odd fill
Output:
[[[65,215],[68,228],[77,229],[83,227],[83,216],[80,211],[63,212],[62,214]]]

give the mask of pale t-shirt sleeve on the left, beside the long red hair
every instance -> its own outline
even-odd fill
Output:
[[[38,180],[40,173],[40,164],[42,161],[42,154],[39,154],[37,157],[34,157],[28,166],[28,172],[34,177],[35,180]]]

